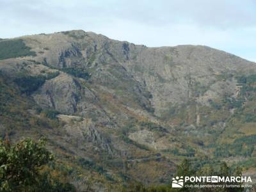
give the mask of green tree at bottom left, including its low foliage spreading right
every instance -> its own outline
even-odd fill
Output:
[[[11,144],[0,140],[0,191],[74,191],[71,184],[47,179],[42,168],[54,156],[45,148],[45,139],[30,138]],[[44,186],[44,188],[42,188]]]

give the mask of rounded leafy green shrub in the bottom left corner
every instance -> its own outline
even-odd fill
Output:
[[[15,145],[0,140],[1,191],[20,191],[36,184],[40,167],[52,160],[45,140],[25,139]]]

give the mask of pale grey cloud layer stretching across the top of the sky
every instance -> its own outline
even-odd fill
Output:
[[[116,18],[152,26],[175,23],[196,24],[213,28],[255,26],[254,0],[130,0],[130,1],[19,1],[3,0],[1,14],[14,15],[31,24],[62,24],[67,22],[112,22]]]

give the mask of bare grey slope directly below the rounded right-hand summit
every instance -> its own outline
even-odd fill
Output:
[[[216,77],[253,67],[253,63],[226,52],[192,45],[145,48],[132,63],[123,65],[152,93],[156,112],[166,109],[166,103],[181,104],[195,97],[202,97],[205,102],[207,95],[209,99],[219,99],[232,94],[234,79],[220,82]],[[209,92],[197,95],[200,88]]]

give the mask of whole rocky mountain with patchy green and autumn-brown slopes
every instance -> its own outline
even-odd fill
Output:
[[[256,175],[256,63],[92,32],[0,40],[0,133],[47,137],[95,189],[168,183],[184,158]]]

